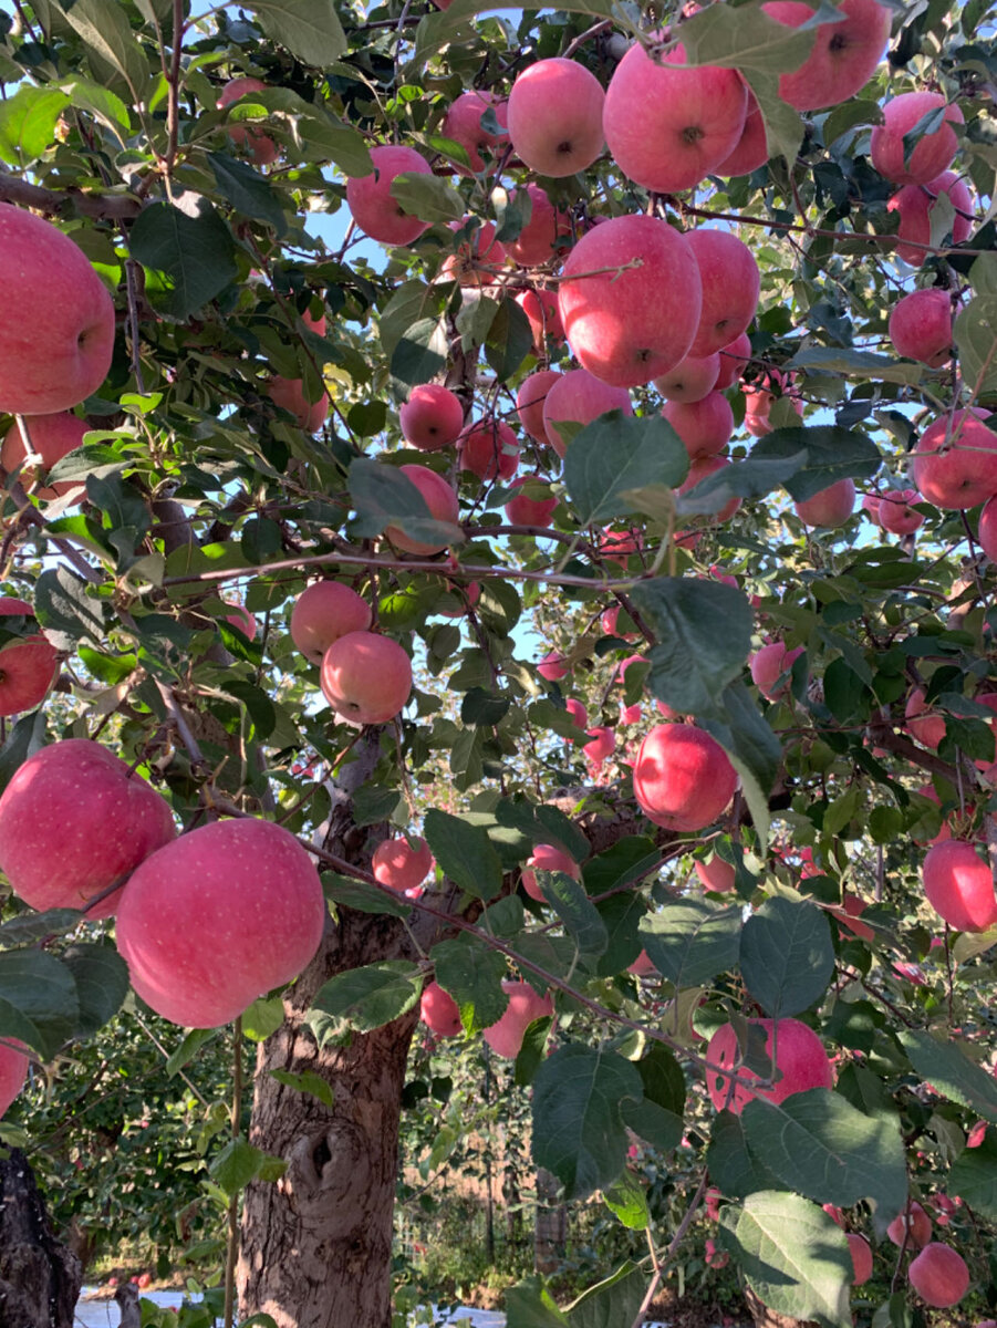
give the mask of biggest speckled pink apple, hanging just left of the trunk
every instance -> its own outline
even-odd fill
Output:
[[[131,985],[185,1028],[227,1024],[311,961],[327,908],[295,837],[246,817],[199,826],[133,872],[115,940]]]

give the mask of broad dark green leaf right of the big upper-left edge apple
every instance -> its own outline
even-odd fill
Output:
[[[131,256],[146,270],[146,295],[159,313],[178,323],[238,276],[235,244],[226,223],[206,198],[182,198],[183,210],[173,203],[150,203],[129,234]]]

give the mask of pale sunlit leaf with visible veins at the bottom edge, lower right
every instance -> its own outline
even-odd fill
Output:
[[[815,1203],[778,1190],[751,1194],[739,1211],[724,1210],[720,1244],[770,1309],[823,1328],[851,1328],[848,1242]]]

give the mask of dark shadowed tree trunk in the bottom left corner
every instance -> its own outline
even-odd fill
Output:
[[[80,1260],[52,1234],[20,1149],[0,1161],[0,1328],[72,1328]]]

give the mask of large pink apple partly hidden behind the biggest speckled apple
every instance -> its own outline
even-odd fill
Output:
[[[41,748],[0,797],[0,867],[38,912],[86,908],[175,834],[165,798],[89,738]],[[117,890],[88,916],[110,918],[119,898]]]

